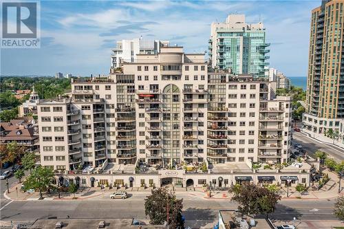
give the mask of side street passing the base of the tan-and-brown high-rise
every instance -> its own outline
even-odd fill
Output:
[[[338,146],[329,146],[322,142],[317,142],[302,132],[293,131],[292,137],[294,138],[293,142],[301,144],[302,148],[305,149],[310,156],[312,156],[315,151],[321,150],[334,157],[334,160],[337,162],[342,162],[344,160],[344,150]]]

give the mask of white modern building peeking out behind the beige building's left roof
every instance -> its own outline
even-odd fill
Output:
[[[136,54],[158,54],[160,47],[169,46],[169,41],[155,41],[151,39],[132,39],[117,41],[111,54],[110,72],[122,67],[124,62],[136,61]]]

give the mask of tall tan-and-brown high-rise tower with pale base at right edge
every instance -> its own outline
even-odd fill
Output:
[[[344,118],[343,1],[322,1],[312,10],[305,131],[339,131]]]

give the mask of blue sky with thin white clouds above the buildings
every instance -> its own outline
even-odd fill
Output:
[[[169,40],[208,47],[210,25],[228,14],[262,21],[270,67],[307,76],[311,10],[321,1],[41,1],[41,48],[1,49],[1,75],[107,74],[116,41]]]

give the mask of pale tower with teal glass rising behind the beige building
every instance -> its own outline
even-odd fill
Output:
[[[246,23],[244,14],[230,14],[224,23],[211,23],[208,49],[213,68],[264,78],[269,45],[263,23]]]

